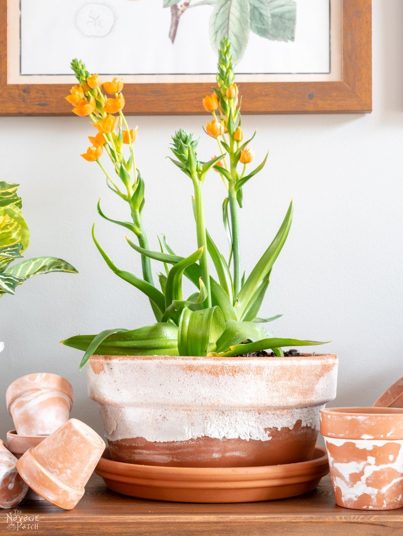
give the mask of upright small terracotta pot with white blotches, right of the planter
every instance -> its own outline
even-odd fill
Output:
[[[355,510],[403,507],[403,409],[320,411],[336,503]]]

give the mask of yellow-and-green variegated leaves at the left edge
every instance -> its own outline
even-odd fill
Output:
[[[15,294],[18,285],[41,273],[77,270],[57,257],[35,257],[20,260],[29,245],[29,229],[21,212],[19,184],[0,181],[0,297]],[[0,343],[0,352],[4,344]]]

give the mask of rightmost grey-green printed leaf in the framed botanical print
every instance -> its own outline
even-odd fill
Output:
[[[294,0],[266,0],[266,2],[249,0],[249,2],[252,32],[272,41],[294,41],[296,23]],[[268,8],[268,18],[264,3]]]

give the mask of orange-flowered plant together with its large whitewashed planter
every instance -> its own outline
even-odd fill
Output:
[[[174,134],[170,147],[170,159],[193,187],[197,248],[186,256],[176,254],[165,237],[158,251],[148,245],[141,220],[145,183],[133,150],[137,129],[129,129],[122,111],[123,81],[102,85],[77,59],[72,68],[78,84],[67,100],[74,113],[89,116],[98,130],[89,137],[92,146],[83,157],[100,166],[108,187],[128,206],[130,221],[110,218],[100,203],[98,212],[130,232],[126,240],[141,255],[143,278],[115,265],[94,227],[93,240],[109,268],[147,295],[156,318],[134,330],[108,329],[62,341],[85,352],[81,367],[90,360],[89,396],[100,404],[111,457],[204,467],[311,459],[319,408],[335,397],[337,356],[284,352],[283,347],[322,343],[277,337],[264,327],[277,317],[258,317],[287,239],[292,204],[255,268],[248,276],[242,273],[238,210],[245,185],[263,169],[267,155],[250,170],[256,132],[244,140],[229,40],[223,39],[219,50],[218,87],[203,99],[211,113],[205,131],[215,138],[219,155],[200,161],[198,140],[183,130]],[[100,161],[103,153],[108,169]],[[205,226],[203,190],[210,172],[210,179],[217,172],[225,184],[228,260]],[[160,288],[154,284],[151,259],[162,266]],[[190,296],[183,295],[184,277],[195,286]]]

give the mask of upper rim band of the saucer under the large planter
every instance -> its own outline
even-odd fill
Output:
[[[327,463],[327,453],[322,446],[315,447],[314,458],[308,461],[258,467],[170,467],[128,464],[123,461],[111,460],[109,449],[106,448],[95,467],[95,473],[102,477],[105,476],[105,478],[107,478],[107,474],[114,475],[114,477],[121,475],[124,478],[137,478],[146,472],[147,479],[166,481],[180,481],[190,478],[199,482],[217,482],[219,479],[227,481],[262,480],[262,478],[293,479],[301,475],[317,473],[318,468],[325,463]]]

